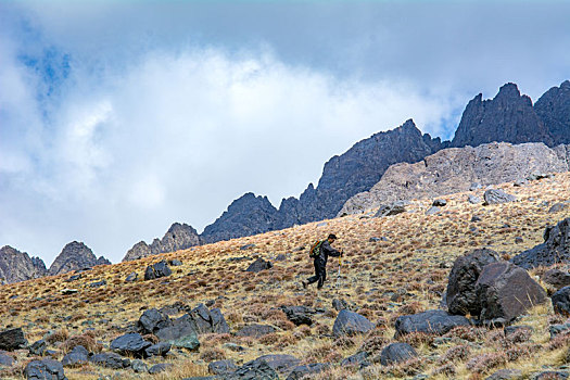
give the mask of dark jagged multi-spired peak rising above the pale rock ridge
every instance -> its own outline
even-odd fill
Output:
[[[552,138],[532,100],[521,96],[515,84],[501,87],[492,100],[482,100],[481,93],[474,97],[461,115],[452,145],[477,147],[493,141],[550,144]]]

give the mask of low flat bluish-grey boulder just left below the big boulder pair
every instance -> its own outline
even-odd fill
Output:
[[[443,335],[457,326],[470,326],[469,319],[451,315],[444,311],[427,311],[414,315],[403,315],[395,322],[395,338],[411,332]]]

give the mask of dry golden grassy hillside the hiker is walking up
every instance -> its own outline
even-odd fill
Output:
[[[444,197],[447,205],[438,215],[425,212],[432,200],[415,200],[409,212],[384,218],[368,215],[347,216],[313,223],[281,231],[218,242],[190,250],[161,254],[140,261],[99,266],[83,274],[79,280],[66,282],[73,274],[4,286],[0,291],[2,327],[22,327],[30,343],[48,331],[50,349],[63,356],[68,339],[80,335],[86,344],[105,346],[125,329],[135,324],[142,312],[181,302],[189,306],[199,303],[220,307],[232,331],[244,324],[262,322],[278,328],[278,332],[261,339],[238,338],[231,334],[210,334],[200,338],[199,353],[175,352],[168,359],[176,369],[156,378],[182,379],[207,375],[207,364],[214,359],[230,358],[238,364],[264,354],[292,354],[304,363],[339,363],[365,345],[379,350],[393,342],[395,318],[436,308],[444,292],[454,259],[477,248],[491,248],[505,258],[511,257],[542,242],[543,230],[570,216],[570,206],[559,213],[548,213],[549,206],[570,198],[570,175],[559,174],[550,179],[532,181],[523,187],[504,183],[508,193],[519,202],[503,205],[473,205],[467,193]],[[481,195],[483,190],[478,190]],[[547,202],[547,204],[546,204]],[[471,223],[479,215],[481,221]],[[334,232],[334,243],[343,249],[346,257],[338,281],[339,262],[331,258],[329,280],[322,291],[303,290],[301,280],[313,274],[308,245],[317,238]],[[385,238],[373,242],[370,238]],[[517,239],[516,238],[522,238]],[[254,248],[241,250],[245,244]],[[283,261],[276,261],[278,255]],[[239,259],[239,257],[246,257]],[[271,261],[274,268],[258,274],[244,269],[255,257]],[[149,264],[161,259],[177,258],[181,266],[172,267],[173,275],[143,281]],[[237,259],[238,258],[238,259]],[[531,275],[539,275],[543,268]],[[136,282],[125,278],[132,271],[139,274]],[[105,280],[100,288],[90,288],[96,281]],[[339,287],[338,287],[339,284]],[[63,289],[77,289],[78,293],[64,295]],[[337,312],[331,302],[341,297],[355,304],[358,313],[377,324],[366,337],[331,338]],[[307,305],[326,308],[317,315],[312,327],[295,327],[281,311],[280,305]],[[555,316],[550,305],[539,306],[521,324],[534,328],[532,335],[521,342],[508,342],[499,337],[502,330],[480,328],[459,329],[449,339],[411,335],[405,340],[417,347],[420,359],[398,367],[379,364],[358,372],[333,367],[317,376],[318,379],[377,379],[406,378],[415,373],[433,375],[434,379],[483,379],[499,368],[518,368],[529,375],[543,369],[543,365],[557,367],[563,364],[569,342],[549,341],[548,325],[563,321]],[[62,343],[67,340],[67,343]],[[233,352],[224,346],[232,342],[244,346]],[[104,349],[106,350],[106,349]],[[20,378],[25,364],[30,360],[27,351],[16,352],[18,364],[3,369],[2,378]],[[66,369],[69,379],[98,379],[115,370],[93,365]],[[438,375],[440,373],[440,375]],[[445,375],[447,373],[447,375]],[[122,371],[122,379],[139,378],[130,370]]]

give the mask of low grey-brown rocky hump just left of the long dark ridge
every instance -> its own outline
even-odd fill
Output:
[[[123,261],[129,262],[159,253],[187,250],[201,243],[202,239],[192,226],[175,223],[168,228],[162,239],[154,239],[152,244],[149,245],[144,241],[139,241],[132,245]]]

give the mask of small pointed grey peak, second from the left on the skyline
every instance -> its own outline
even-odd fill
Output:
[[[51,264],[50,269],[48,270],[48,275],[55,276],[72,270],[107,264],[111,264],[109,259],[103,256],[97,258],[93,251],[83,242],[72,241],[65,245],[58,257],[55,257],[55,261]]]

